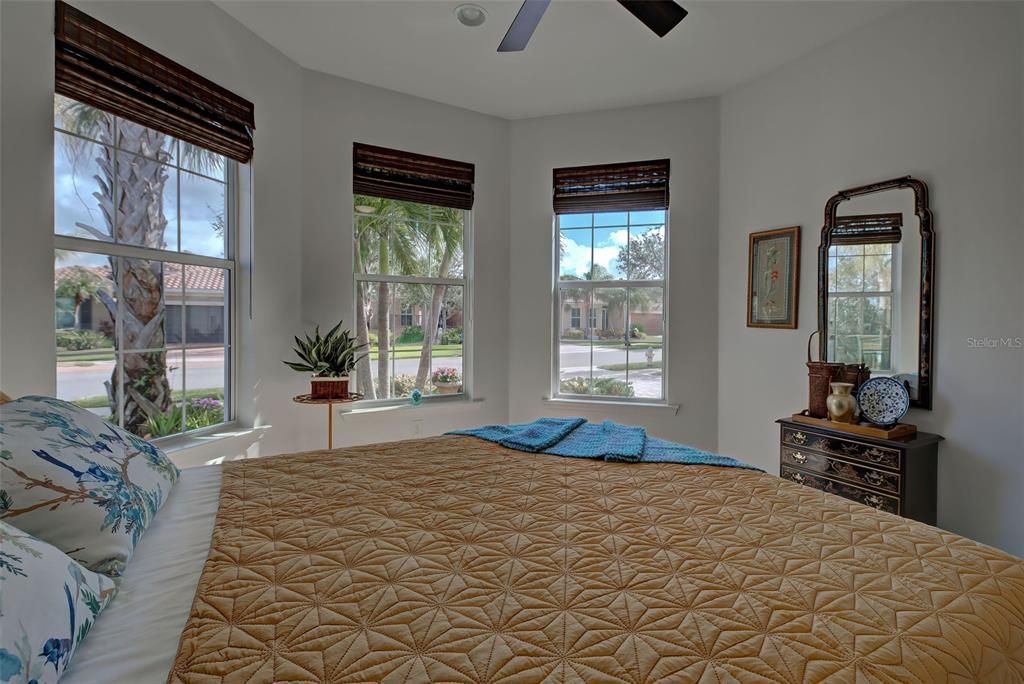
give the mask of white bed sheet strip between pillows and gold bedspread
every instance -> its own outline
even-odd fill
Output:
[[[188,619],[220,498],[220,466],[187,468],[128,561],[114,601],[61,678],[71,684],[167,681]]]

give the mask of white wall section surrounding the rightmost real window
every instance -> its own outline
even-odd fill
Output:
[[[717,439],[718,101],[512,122],[509,409],[512,421],[582,415],[641,424],[713,448]],[[551,391],[555,167],[670,158],[669,409],[560,405]]]

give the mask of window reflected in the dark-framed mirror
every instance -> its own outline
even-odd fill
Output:
[[[834,245],[828,250],[828,358],[893,369],[894,244]]]

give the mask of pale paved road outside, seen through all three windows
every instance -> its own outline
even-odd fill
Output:
[[[647,347],[637,344],[629,351],[629,361],[646,361]],[[654,362],[660,365],[662,350],[653,349]],[[562,342],[559,350],[561,378],[574,378],[590,375],[591,348],[587,344]],[[615,378],[627,380],[626,371],[604,371],[597,367],[612,366],[627,362],[627,352],[622,348],[595,346],[593,350],[594,377]],[[189,349],[187,352],[185,372],[182,373],[180,351],[167,352],[167,365],[170,369],[168,380],[172,389],[181,389],[182,375],[187,375],[185,386],[188,389],[221,389],[224,386],[224,356],[220,349]],[[371,361],[376,369],[376,361]],[[392,359],[394,375],[416,375],[420,366],[419,358]],[[433,368],[450,367],[462,372],[462,357],[451,356],[434,359]],[[110,380],[114,371],[114,361],[81,361],[57,365],[57,396],[62,399],[82,399],[87,396],[106,394],[104,382]],[[659,368],[629,371],[629,382],[638,397],[659,398],[662,396],[662,371]]]

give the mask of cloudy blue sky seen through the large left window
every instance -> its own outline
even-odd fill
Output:
[[[90,237],[76,227],[78,223],[108,231],[102,213],[93,194],[99,189],[94,176],[99,175],[95,159],[99,145],[84,143],[77,155],[69,154],[70,138],[55,132],[53,155],[53,210],[58,234]],[[122,153],[125,157],[125,155]],[[168,167],[169,178],[164,186],[164,215],[167,218],[165,240],[169,250],[178,247],[178,223],[181,225],[183,252],[206,256],[224,256],[223,239],[214,232],[213,220],[224,211],[224,183]],[[180,211],[178,191],[180,189]],[[102,258],[100,258],[102,260]]]

